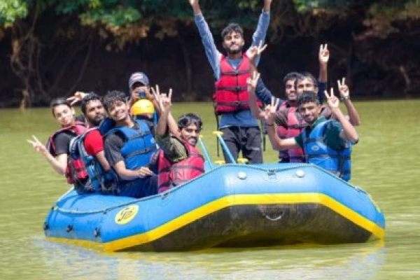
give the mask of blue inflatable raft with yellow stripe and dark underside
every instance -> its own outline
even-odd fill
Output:
[[[364,190],[314,165],[222,165],[161,195],[61,197],[45,235],[102,251],[191,251],[384,238]]]

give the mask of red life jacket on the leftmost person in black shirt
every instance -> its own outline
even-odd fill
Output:
[[[47,142],[47,149],[50,151],[52,155],[55,155],[55,137],[62,132],[70,132],[74,135],[74,137],[83,134],[87,130],[87,127],[84,123],[76,121],[74,125],[70,127],[63,127],[56,132],[54,132]],[[85,181],[88,178],[87,171],[85,169],[85,165],[81,158],[73,159],[68,153],[67,155],[67,167],[66,167],[66,179],[67,183],[73,184],[77,183],[78,181]]]

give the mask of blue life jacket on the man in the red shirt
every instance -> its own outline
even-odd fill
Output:
[[[89,176],[89,186],[85,186],[87,193],[110,193],[114,186],[116,176],[113,172],[106,172],[104,167],[94,155],[89,155],[85,149],[85,138],[89,132],[99,130],[92,127],[82,135],[75,137],[70,142],[70,155],[72,158],[81,158]]]

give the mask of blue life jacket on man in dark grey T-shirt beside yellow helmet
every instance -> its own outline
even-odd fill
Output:
[[[141,120],[135,120],[139,125],[140,129],[134,129],[134,127],[113,127],[111,130],[106,132],[104,137],[109,134],[118,134],[123,136],[124,146],[121,148],[121,155],[123,155],[125,168],[130,170],[139,169],[148,165],[151,160],[151,156],[157,150],[155,138],[148,128],[148,125]],[[101,124],[102,126],[102,124]],[[107,126],[104,123],[104,126]],[[103,132],[102,128],[99,128],[100,132]],[[129,183],[132,181],[120,180],[120,183]]]

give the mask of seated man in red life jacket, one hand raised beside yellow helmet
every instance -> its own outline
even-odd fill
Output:
[[[202,130],[202,120],[195,113],[186,113],[178,119],[178,132],[169,134],[168,117],[172,107],[169,95],[155,94],[162,115],[156,128],[160,146],[151,166],[158,169],[158,193],[179,186],[204,173],[204,158],[195,146]]]

